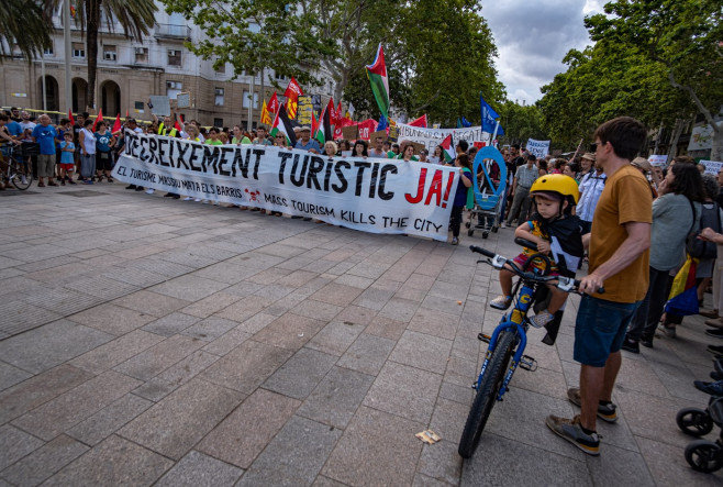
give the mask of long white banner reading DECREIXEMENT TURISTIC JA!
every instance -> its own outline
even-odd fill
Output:
[[[447,240],[457,174],[415,162],[212,146],[127,131],[113,168],[114,178],[146,188],[440,241]]]

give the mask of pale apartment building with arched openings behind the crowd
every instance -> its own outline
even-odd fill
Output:
[[[147,36],[133,41],[123,35],[120,25],[111,29],[101,20],[98,35],[98,70],[96,80],[96,106],[89,110],[102,110],[105,119],[126,111],[138,120],[151,120],[146,102],[149,96],[189,93],[190,107],[179,109],[186,120],[198,120],[202,125],[231,126],[243,124],[255,128],[260,117],[263,100],[276,90],[283,95],[288,78],[276,77],[266,70],[264,88],[257,75],[233,78],[233,67],[226,65],[213,69],[212,60],[203,60],[185,46],[204,38],[203,32],[186,21],[180,14],[168,14],[156,2],[156,24]],[[67,113],[65,100],[65,42],[63,16],[58,11],[53,19],[53,47],[44,53],[43,59],[30,64],[19,55],[0,64],[0,106],[43,109],[42,71],[45,64],[45,102],[48,111]],[[73,111],[84,111],[86,103],[87,57],[85,37],[80,29],[71,23],[73,53]],[[318,66],[318,65],[316,65]],[[324,101],[333,93],[334,82],[329,74],[318,74],[323,84],[314,88]],[[276,81],[280,89],[272,86]],[[262,92],[263,91],[263,92]],[[253,101],[252,101],[253,93]],[[249,122],[249,104],[251,122]]]

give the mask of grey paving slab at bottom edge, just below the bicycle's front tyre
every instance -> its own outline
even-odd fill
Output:
[[[546,443],[542,444],[546,445]],[[511,464],[511,458],[524,458],[524,461]],[[483,433],[475,455],[463,465],[460,484],[527,485],[532,483],[541,486],[570,487],[593,485],[582,460],[560,456],[546,449]]]

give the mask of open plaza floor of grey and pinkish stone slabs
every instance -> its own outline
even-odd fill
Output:
[[[500,319],[467,245],[516,255],[511,230],[455,247],[123,186],[0,191],[0,486],[721,485],[675,423],[708,399],[700,317],[624,353],[589,457],[544,424],[579,411],[571,297],[463,462]]]

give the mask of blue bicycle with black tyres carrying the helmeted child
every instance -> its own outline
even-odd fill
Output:
[[[515,243],[529,248],[537,247],[534,242],[524,239],[518,237]],[[519,279],[512,291],[512,296],[516,296],[512,310],[502,317],[491,336],[482,333],[478,335],[479,340],[489,342],[489,346],[479,377],[472,385],[477,394],[459,440],[458,452],[463,458],[469,458],[475,453],[492,407],[494,402],[502,400],[518,366],[531,372],[537,369],[535,359],[524,355],[527,345],[526,333],[530,328],[527,311],[537,299],[542,299],[543,294],[546,294],[547,283],[557,281],[557,288],[565,292],[576,292],[580,284],[579,280],[568,277],[548,276],[552,262],[544,254],[530,256],[523,268],[520,268],[513,261],[485,248],[470,246],[469,250],[489,257],[477,261],[478,264],[489,264],[496,269],[501,269],[507,265]],[[542,272],[530,270],[535,262],[538,263],[535,267]],[[603,289],[600,288],[598,291],[602,292]]]

